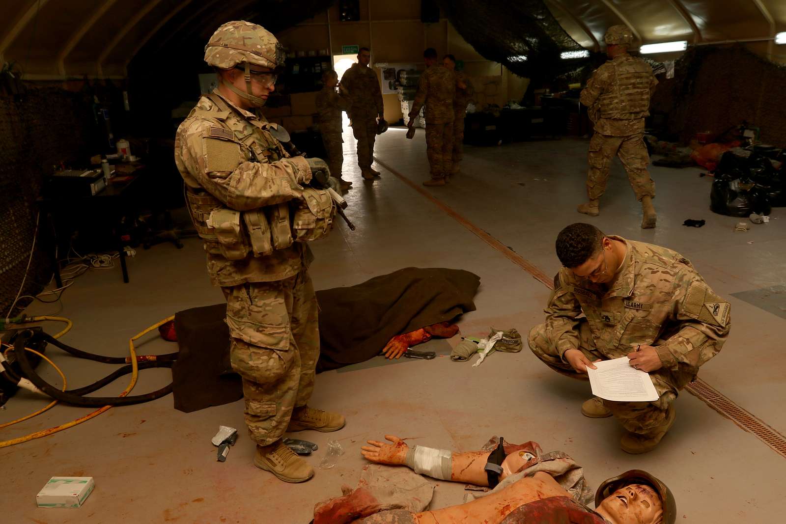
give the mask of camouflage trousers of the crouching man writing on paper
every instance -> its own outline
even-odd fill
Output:
[[[589,361],[608,360],[594,348],[592,333],[589,324],[582,320],[578,324],[578,336],[580,350]],[[530,330],[529,335],[530,350],[545,365],[552,368],[560,375],[569,376],[572,379],[589,380],[586,373],[576,372],[567,362],[560,358],[560,351],[556,348],[556,340],[545,328],[545,324],[538,324]],[[657,343],[656,343],[657,344]],[[603,401],[603,405],[611,411],[615,418],[622,423],[623,427],[632,433],[646,436],[654,436],[660,428],[666,426],[668,412],[671,403],[677,398],[677,390],[664,380],[659,372],[652,372],[652,383],[658,392],[659,399],[653,402],[615,402]]]

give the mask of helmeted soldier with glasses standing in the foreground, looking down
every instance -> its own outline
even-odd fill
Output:
[[[285,431],[336,431],[343,416],[307,407],[319,355],[317,300],[306,244],[329,229],[324,191],[306,185],[321,159],[290,157],[285,130],[259,112],[275,89],[284,52],[263,27],[223,24],[204,60],[219,87],[203,95],[178,127],[174,159],[194,225],[208,251],[208,273],[226,297],[230,361],[243,379],[254,464],[286,482],[314,469],[282,442]],[[306,216],[306,200],[320,214]],[[327,200],[330,200],[329,195]],[[294,213],[290,219],[290,212]]]

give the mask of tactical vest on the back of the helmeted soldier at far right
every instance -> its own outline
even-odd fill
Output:
[[[644,60],[626,57],[612,60],[614,84],[601,94],[598,106],[601,118],[635,120],[649,115],[649,86],[652,68]]]

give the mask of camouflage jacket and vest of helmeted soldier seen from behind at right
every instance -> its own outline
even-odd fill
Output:
[[[624,137],[644,132],[657,85],[649,64],[623,53],[597,68],[580,100],[589,108],[597,133]]]

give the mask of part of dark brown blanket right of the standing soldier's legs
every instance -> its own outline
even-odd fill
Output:
[[[317,291],[317,372],[369,360],[395,335],[474,311],[479,285],[463,269],[408,267],[351,288]]]

